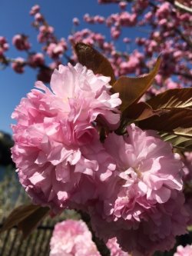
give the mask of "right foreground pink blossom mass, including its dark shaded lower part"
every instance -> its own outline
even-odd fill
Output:
[[[104,147],[117,172],[96,211],[90,208],[94,230],[105,240],[117,237],[124,251],[135,254],[169,250],[187,226],[181,162],[154,131],[135,125],[124,137],[111,133]]]

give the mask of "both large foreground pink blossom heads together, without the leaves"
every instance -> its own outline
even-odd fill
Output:
[[[53,214],[88,214],[106,244],[132,255],[169,250],[186,233],[184,164],[155,131],[131,124],[116,134],[121,99],[110,80],[69,63],[55,69],[51,89],[36,82],[12,114],[19,180]]]

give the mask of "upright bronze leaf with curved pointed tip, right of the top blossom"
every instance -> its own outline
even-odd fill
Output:
[[[157,58],[157,62],[153,70],[142,77],[129,78],[122,76],[114,83],[113,92],[119,92],[122,101],[121,110],[123,111],[130,105],[137,103],[137,101],[144,95],[148,88],[150,88],[154,81],[155,75],[161,65],[161,58]]]

